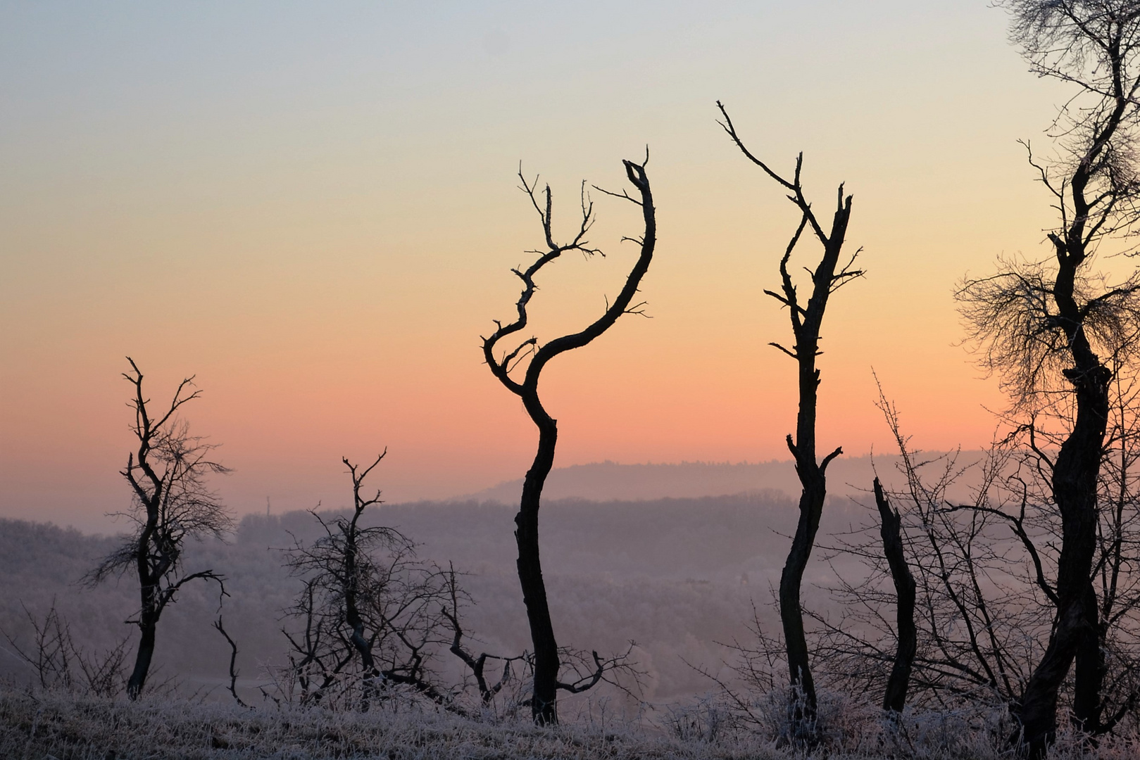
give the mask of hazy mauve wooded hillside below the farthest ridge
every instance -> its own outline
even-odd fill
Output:
[[[846,530],[862,520],[861,508],[846,504],[833,502],[824,530]],[[675,700],[708,689],[709,681],[682,657],[717,668],[725,651],[716,641],[747,636],[754,602],[774,622],[766,605],[787,550],[780,532],[795,524],[795,505],[781,493],[562,500],[544,510],[544,563],[561,641],[603,652],[637,641],[638,662],[649,672],[646,698]],[[495,502],[418,502],[384,505],[372,520],[418,541],[422,557],[451,562],[467,573],[463,582],[475,602],[466,612],[469,630],[489,652],[518,653],[528,639],[514,571],[513,515],[513,508]],[[241,647],[246,689],[260,683],[260,665],[282,662],[285,655],[282,611],[300,581],[282,567],[282,549],[293,536],[310,540],[316,529],[304,512],[249,515],[230,541],[187,549],[188,569],[212,567],[227,578],[223,614]],[[26,645],[31,630],[23,605],[42,615],[55,598],[89,646],[107,647],[135,634],[122,623],[136,604],[129,579],[93,590],[76,585],[111,546],[107,538],[74,530],[0,521],[0,574],[6,579],[0,628]],[[822,558],[813,564],[811,581],[831,577]],[[826,602],[822,593],[809,596]],[[165,613],[156,653],[162,673],[190,685],[220,683],[227,647],[210,628],[218,600],[215,587],[194,585]],[[17,675],[22,668],[10,653],[0,652],[0,671]]]

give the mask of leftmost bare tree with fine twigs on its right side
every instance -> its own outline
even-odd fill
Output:
[[[142,373],[133,359],[128,357],[127,361],[131,371],[123,377],[133,386],[128,406],[135,411],[131,432],[138,439],[138,449],[127,457],[121,473],[131,487],[131,509],[121,514],[135,523],[135,530],[85,575],[85,581],[93,586],[131,570],[138,579],[139,610],[137,618],[128,621],[140,632],[135,668],[127,681],[127,694],[135,700],[150,670],[158,619],[179,589],[194,580],[211,580],[218,583],[221,595],[226,594],[225,578],[213,570],[184,570],[186,540],[222,538],[233,526],[233,518],[206,488],[207,475],[229,472],[210,458],[218,446],[190,435],[189,425],[177,416],[201,393],[190,391],[194,377],[179,383],[170,406],[153,415],[147,406],[150,400],[142,392]]]

